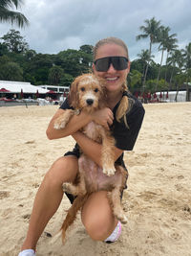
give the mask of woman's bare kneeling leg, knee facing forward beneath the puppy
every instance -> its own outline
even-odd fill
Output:
[[[96,241],[107,239],[117,226],[117,219],[106,191],[93,193],[83,206],[81,220],[89,236]]]

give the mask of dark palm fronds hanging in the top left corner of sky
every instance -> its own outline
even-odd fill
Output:
[[[22,0],[0,0],[0,22],[11,22],[23,28],[29,25],[29,20],[21,12],[13,12],[10,8],[16,9],[23,3]]]

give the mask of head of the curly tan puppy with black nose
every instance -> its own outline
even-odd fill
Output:
[[[72,83],[69,99],[74,108],[91,112],[101,107],[104,96],[104,81],[94,74],[84,74]]]

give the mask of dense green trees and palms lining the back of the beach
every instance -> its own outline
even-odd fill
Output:
[[[169,35],[168,27],[160,26],[155,18],[145,21],[145,24],[141,26],[143,34],[139,38],[150,38],[150,49],[141,50],[138,58],[131,62],[131,72],[127,78],[131,92],[142,92],[143,88],[150,92],[172,89],[190,81],[191,43],[185,49],[178,50],[175,35]],[[159,64],[153,60],[151,46],[154,42],[159,43],[159,50],[169,51],[164,65],[162,61]],[[85,44],[79,50],[68,49],[49,55],[37,54],[30,49],[17,31],[11,30],[1,38],[0,80],[70,86],[76,76],[92,71],[92,63],[92,45]]]

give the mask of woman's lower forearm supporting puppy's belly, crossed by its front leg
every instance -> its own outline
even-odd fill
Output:
[[[100,167],[102,167],[101,162],[101,148],[102,145],[96,143],[92,139],[88,138],[85,134],[83,134],[80,131],[76,131],[73,134],[74,140],[79,145],[81,150],[88,155],[96,164]],[[117,149],[115,147],[115,161],[117,158],[121,155],[123,151]]]

